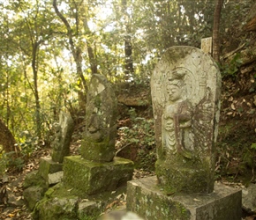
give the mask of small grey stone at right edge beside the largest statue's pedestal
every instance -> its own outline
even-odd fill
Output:
[[[242,205],[247,212],[256,212],[256,184],[243,189]]]

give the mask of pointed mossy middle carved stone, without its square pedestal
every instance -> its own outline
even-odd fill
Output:
[[[107,78],[99,74],[94,74],[89,84],[86,121],[82,158],[112,161],[117,135],[117,98]]]

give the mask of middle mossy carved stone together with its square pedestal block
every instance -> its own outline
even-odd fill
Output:
[[[88,87],[81,156],[64,158],[64,183],[86,194],[115,190],[132,179],[133,163],[115,156],[117,98],[106,77],[94,74]]]

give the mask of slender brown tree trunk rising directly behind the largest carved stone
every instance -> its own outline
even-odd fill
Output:
[[[220,21],[223,0],[215,0],[215,17],[213,30],[213,57],[216,62],[220,62]]]

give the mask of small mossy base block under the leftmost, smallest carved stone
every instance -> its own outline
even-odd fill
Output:
[[[39,164],[39,174],[41,177],[48,182],[48,175],[50,173],[62,171],[63,165],[54,162],[51,158],[41,158]]]

